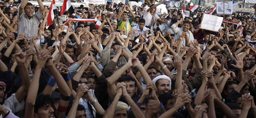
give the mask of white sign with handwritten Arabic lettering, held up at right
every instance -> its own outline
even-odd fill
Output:
[[[218,32],[222,23],[223,17],[204,14],[201,22],[201,29]]]

